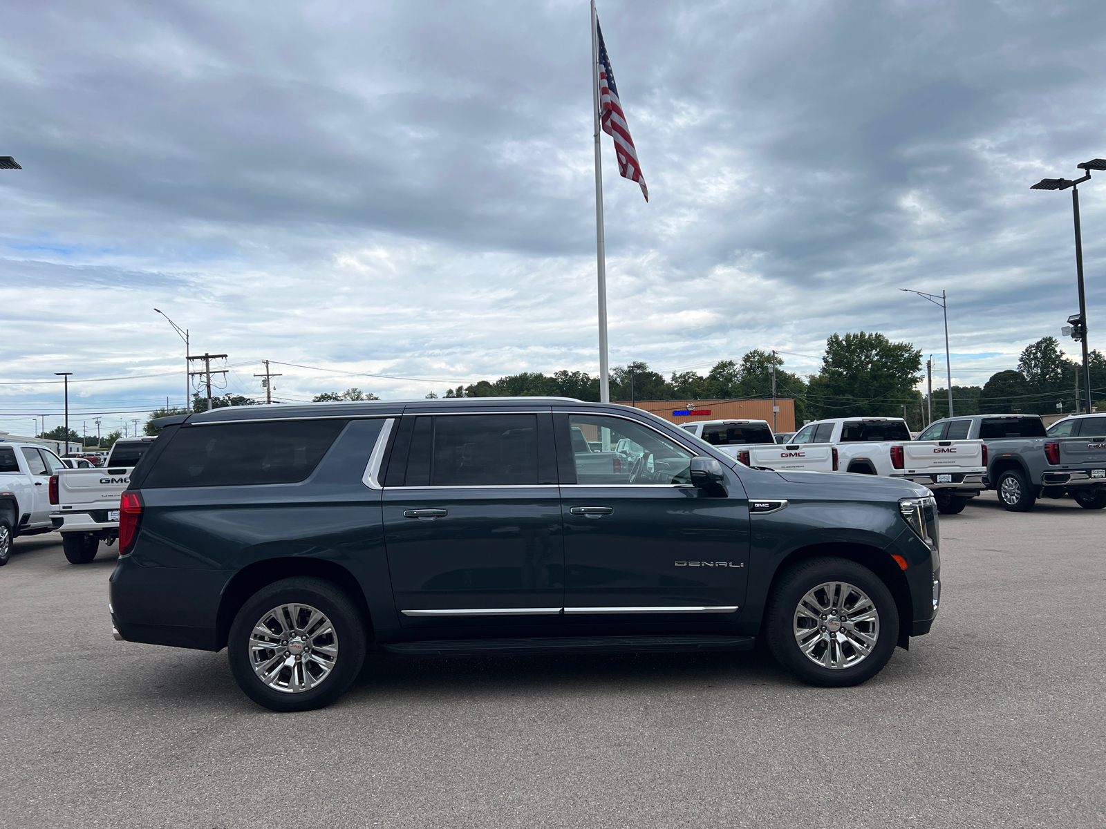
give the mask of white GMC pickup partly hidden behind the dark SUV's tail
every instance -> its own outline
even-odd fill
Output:
[[[119,536],[119,495],[156,438],[119,438],[100,469],[60,469],[50,479],[50,518],[71,564],[87,564]]]

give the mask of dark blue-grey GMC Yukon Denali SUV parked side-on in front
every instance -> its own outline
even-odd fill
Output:
[[[335,700],[368,649],[763,637],[799,678],[854,685],[937,615],[927,490],[750,469],[637,409],[478,398],[160,423],[122,497],[115,636],[226,647],[242,691],[276,711]],[[577,459],[577,431],[601,463],[592,447]]]

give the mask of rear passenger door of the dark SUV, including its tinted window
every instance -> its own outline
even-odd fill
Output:
[[[577,444],[591,451],[586,440]],[[404,417],[384,478],[384,535],[407,627],[560,616],[550,414]]]

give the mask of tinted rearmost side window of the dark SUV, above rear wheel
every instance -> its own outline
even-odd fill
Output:
[[[186,426],[169,438],[143,489],[299,483],[347,420]],[[149,443],[144,444],[149,447]]]

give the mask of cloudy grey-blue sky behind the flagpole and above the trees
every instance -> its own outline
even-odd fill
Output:
[[[1106,4],[599,14],[650,193],[604,136],[612,365],[755,347],[807,374],[864,329],[943,370],[911,287],[949,292],[953,382],[980,384],[1076,312],[1071,199],[1029,186],[1106,156]],[[597,371],[589,59],[580,0],[8,3],[0,429],[61,410],[33,382],[54,371],[77,429],[179,405],[154,307],[229,355],[230,391],[301,366],[273,366],[289,401]],[[1099,348],[1102,178],[1082,190]]]

